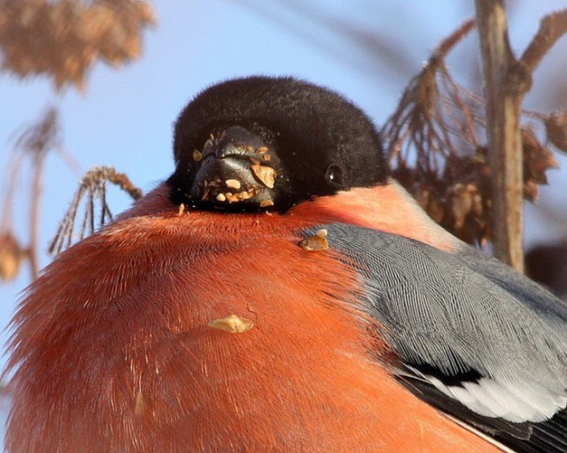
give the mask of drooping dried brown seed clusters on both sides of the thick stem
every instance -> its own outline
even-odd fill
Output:
[[[456,83],[445,65],[447,53],[474,26],[468,20],[440,43],[408,84],[383,133],[393,176],[432,219],[463,241],[483,245],[493,232],[485,105],[481,96]],[[563,113],[537,116],[559,149],[567,142],[566,118]],[[524,198],[530,201],[538,195],[537,186],[547,183],[548,169],[557,167],[535,131],[532,125],[521,129]]]

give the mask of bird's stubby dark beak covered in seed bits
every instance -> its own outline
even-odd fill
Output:
[[[195,150],[198,165],[191,198],[230,211],[266,209],[275,203],[276,153],[244,127],[229,127],[211,136],[202,151]]]

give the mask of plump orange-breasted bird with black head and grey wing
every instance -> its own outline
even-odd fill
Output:
[[[222,81],[12,319],[11,453],[567,451],[567,308],[447,233],[372,119]]]

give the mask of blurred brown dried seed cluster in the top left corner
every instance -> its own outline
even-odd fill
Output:
[[[21,78],[47,74],[58,89],[83,88],[97,60],[138,58],[142,31],[154,23],[142,0],[0,0],[2,68]]]

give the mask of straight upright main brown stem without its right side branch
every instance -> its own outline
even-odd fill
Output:
[[[511,90],[517,67],[508,38],[503,0],[476,0],[478,35],[485,74],[486,132],[493,194],[493,251],[524,271],[524,177],[520,114],[524,90]]]

